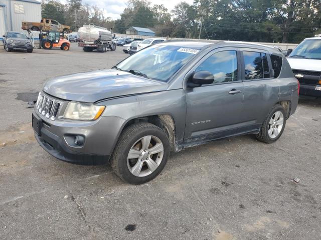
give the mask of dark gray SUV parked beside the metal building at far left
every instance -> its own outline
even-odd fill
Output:
[[[3,43],[6,51],[24,50],[27,52],[33,51],[33,46],[30,39],[23,32],[7,31],[3,35]]]

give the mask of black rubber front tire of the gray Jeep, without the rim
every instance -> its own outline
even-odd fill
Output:
[[[164,154],[162,161],[159,163],[158,167],[146,176],[135,176],[133,175],[127,166],[127,156],[128,152],[135,142],[140,138],[152,135],[159,138],[164,147]],[[130,184],[142,184],[151,179],[155,178],[166,165],[167,159],[170,155],[170,142],[166,133],[151,123],[135,123],[127,127],[120,135],[116,147],[114,149],[113,155],[111,157],[111,167],[114,172],[125,182]]]

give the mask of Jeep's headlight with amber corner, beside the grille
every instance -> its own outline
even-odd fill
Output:
[[[105,106],[91,103],[69,102],[64,112],[64,118],[83,121],[96,120],[104,109]]]

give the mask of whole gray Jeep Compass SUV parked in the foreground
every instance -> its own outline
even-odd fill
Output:
[[[297,101],[298,81],[275,48],[167,41],[112,69],[48,80],[32,124],[53,156],[110,162],[140,184],[163,170],[170,151],[247,133],[276,141]]]

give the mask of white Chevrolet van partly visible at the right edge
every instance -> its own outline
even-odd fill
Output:
[[[321,37],[305,38],[287,58],[300,94],[321,96]]]

